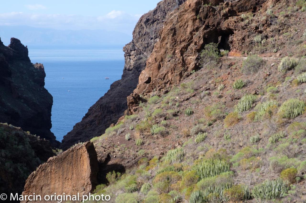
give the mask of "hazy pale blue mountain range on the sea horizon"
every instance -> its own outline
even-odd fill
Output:
[[[24,45],[125,45],[132,36],[106,30],[54,30],[29,26],[0,26],[5,45],[15,37]]]

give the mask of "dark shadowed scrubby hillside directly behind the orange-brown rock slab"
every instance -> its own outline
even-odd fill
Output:
[[[47,140],[0,123],[0,194],[23,191],[27,177],[54,152]]]

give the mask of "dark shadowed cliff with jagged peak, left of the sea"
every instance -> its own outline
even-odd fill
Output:
[[[7,47],[0,40],[0,73],[0,122],[21,127],[58,146],[50,131],[53,98],[44,88],[43,65],[31,63],[28,48],[20,40],[11,38]]]

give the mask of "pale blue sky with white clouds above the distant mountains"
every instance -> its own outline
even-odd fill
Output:
[[[22,25],[57,30],[103,29],[131,35],[140,16],[154,9],[159,1],[2,1],[0,26]]]

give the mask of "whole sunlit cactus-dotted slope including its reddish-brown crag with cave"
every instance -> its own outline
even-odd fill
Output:
[[[111,202],[306,200],[306,4],[208,3],[171,12],[129,116],[91,140],[127,171]]]

